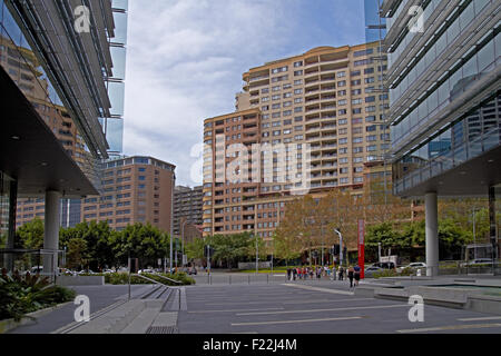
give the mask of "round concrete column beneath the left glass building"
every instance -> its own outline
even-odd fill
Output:
[[[59,191],[46,191],[46,221],[43,235],[43,249],[59,249],[59,227],[61,194]],[[58,267],[58,255],[43,255],[43,273],[52,274]]]

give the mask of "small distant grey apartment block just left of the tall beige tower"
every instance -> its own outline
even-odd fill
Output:
[[[203,187],[181,187],[174,189],[174,235],[181,236],[186,226],[202,226]]]

